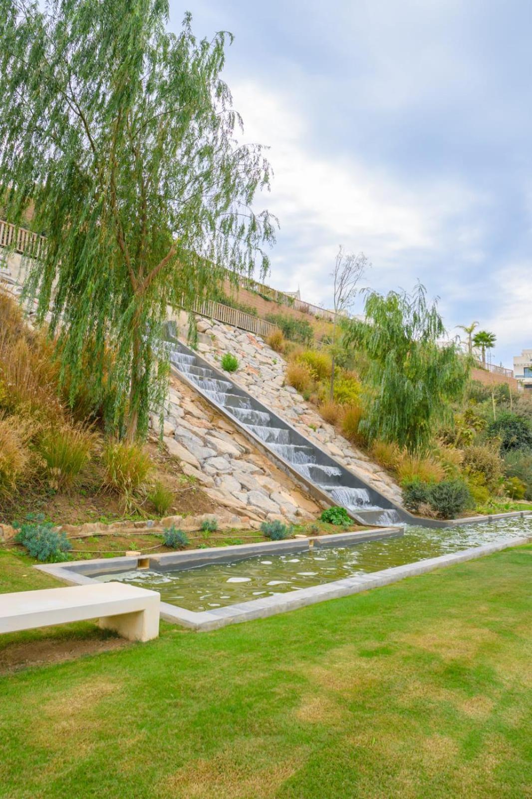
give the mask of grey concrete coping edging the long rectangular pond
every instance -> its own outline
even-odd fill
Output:
[[[529,514],[530,515],[530,514]],[[403,531],[398,527],[383,528],[379,531],[363,531],[361,533],[339,533],[338,535],[328,535],[323,537],[329,543],[318,544],[320,546],[341,546],[355,545],[372,540],[386,539],[388,537],[402,535]],[[312,541],[312,543],[311,543]],[[205,558],[208,550],[192,550],[186,552],[170,552],[168,555],[155,555],[149,559],[150,567],[175,566],[182,563],[183,568],[204,565],[208,562],[223,562],[224,560],[234,560],[238,550],[240,558],[251,558],[254,555],[266,553],[277,554],[280,552],[304,551],[310,547],[316,547],[316,539],[289,539],[288,541],[275,541],[258,544],[242,544],[236,547],[212,547],[212,551],[219,554],[216,559]],[[266,618],[278,613],[285,613],[288,610],[316,602],[323,602],[326,599],[349,596],[358,594],[361,591],[370,590],[379,586],[390,585],[407,577],[415,577],[418,574],[426,574],[435,569],[445,566],[454,566],[457,563],[466,562],[482,558],[485,555],[492,555],[510,547],[519,547],[523,544],[532,542],[532,534],[522,536],[518,539],[499,539],[480,547],[470,547],[469,549],[453,552],[449,555],[440,555],[437,558],[406,563],[403,566],[392,566],[389,569],[374,571],[370,574],[360,574],[355,577],[347,577],[333,582],[322,583],[318,586],[300,588],[288,594],[275,594],[270,597],[252,599],[248,602],[239,602],[226,607],[214,608],[212,610],[194,611],[186,608],[170,605],[169,602],[161,602],[161,618],[165,621],[189,627],[197,632],[208,632],[217,630],[228,624],[238,624],[248,622],[256,618]],[[244,553],[245,549],[245,553]],[[221,550],[221,551],[220,551]],[[233,551],[233,552],[231,552]],[[241,554],[240,554],[241,553]],[[203,561],[199,562],[199,554],[203,556]],[[185,559],[186,556],[189,559]],[[238,556],[237,555],[237,556]],[[181,559],[180,557],[181,556]],[[193,558],[196,557],[196,561]],[[113,571],[125,571],[135,568],[139,559],[137,557],[97,559],[95,561],[74,561],[67,563],[52,563],[44,566],[34,566],[34,568],[45,571],[62,582],[69,585],[86,585],[93,582],[89,574],[112,574]],[[157,561],[153,563],[152,561]]]

